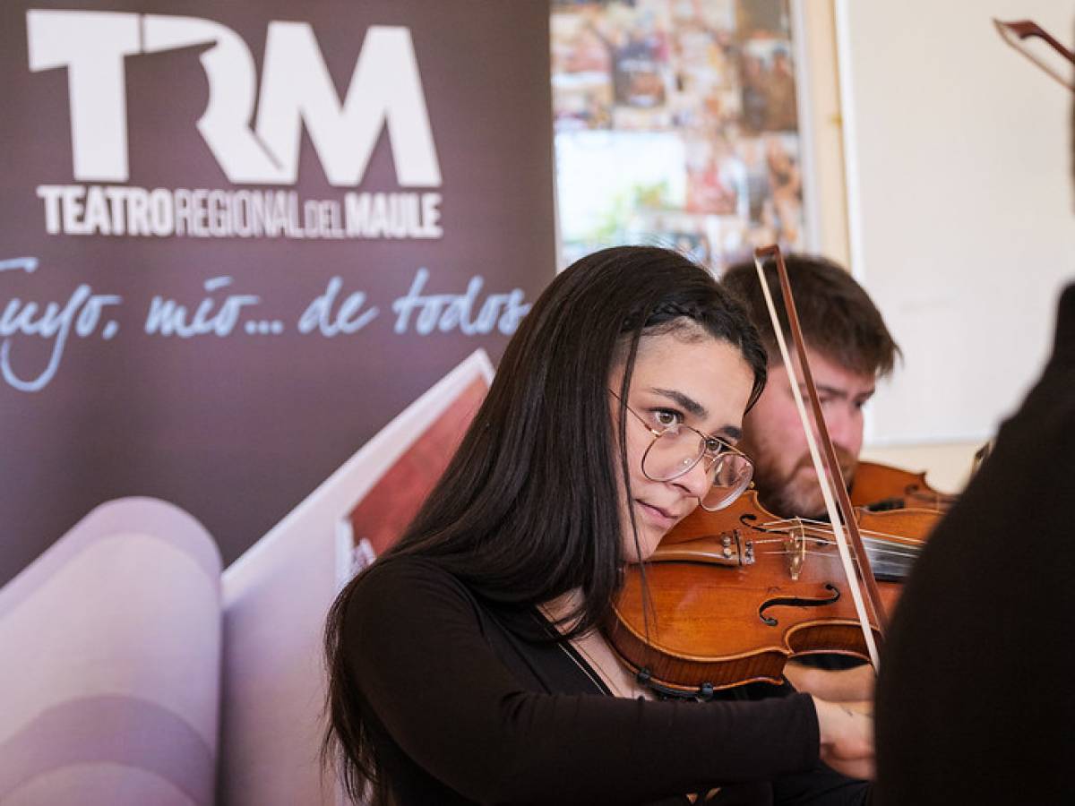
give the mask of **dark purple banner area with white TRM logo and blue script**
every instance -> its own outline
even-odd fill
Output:
[[[224,564],[555,262],[548,6],[4,3],[0,585],[102,502]]]

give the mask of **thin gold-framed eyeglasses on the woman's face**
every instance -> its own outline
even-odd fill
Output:
[[[610,392],[620,400],[616,392]],[[711,513],[728,506],[750,486],[754,462],[735,446],[683,422],[657,430],[627,403],[624,407],[654,435],[654,441],[642,455],[642,472],[650,481],[671,481],[686,475],[704,458],[712,486],[699,499],[699,504]]]

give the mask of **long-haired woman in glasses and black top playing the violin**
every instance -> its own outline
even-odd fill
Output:
[[[743,310],[675,253],[554,280],[436,490],[330,611],[326,748],[352,797],[864,802],[844,775],[871,774],[861,710],[658,700],[600,631],[629,563],[749,483],[735,443],[764,382]]]

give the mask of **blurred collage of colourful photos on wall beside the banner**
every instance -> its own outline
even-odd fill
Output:
[[[719,273],[805,246],[787,0],[554,0],[561,267],[617,243]]]

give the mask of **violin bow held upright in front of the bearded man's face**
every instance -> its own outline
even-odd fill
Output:
[[[817,442],[814,440],[809,419],[806,415],[806,407],[803,405],[802,393],[799,389],[799,379],[796,376],[794,368],[791,365],[791,357],[788,354],[788,346],[784,340],[784,328],[780,327],[776,306],[773,303],[773,296],[769,288],[769,280],[765,277],[765,269],[762,261],[766,258],[772,258],[776,263],[776,272],[780,278],[780,290],[784,297],[784,311],[788,317],[791,337],[794,342],[796,352],[799,356],[799,365],[803,373],[803,386],[806,388],[811,407],[814,412],[818,436],[825,447],[825,460],[829,466],[828,472],[826,472],[821,457],[818,454]],[[836,459],[836,451],[832,446],[832,438],[829,436],[829,429],[825,423],[825,417],[821,413],[821,403],[818,398],[817,387],[814,385],[814,375],[809,370],[809,361],[806,359],[806,346],[803,340],[802,328],[799,325],[799,314],[796,311],[796,302],[791,296],[791,284],[788,280],[788,270],[784,265],[784,256],[780,254],[780,247],[773,244],[755,249],[754,264],[758,270],[758,279],[761,282],[761,290],[765,297],[765,306],[769,308],[769,316],[773,321],[776,344],[780,349],[780,357],[784,359],[784,366],[788,372],[791,394],[794,398],[796,407],[799,409],[799,418],[802,420],[803,430],[806,433],[806,446],[809,448],[814,470],[817,472],[817,478],[821,485],[821,496],[825,499],[825,506],[829,513],[829,520],[832,523],[833,535],[836,538],[836,546],[840,550],[840,559],[844,564],[844,574],[847,577],[847,584],[851,590],[851,599],[855,602],[855,611],[859,617],[859,624],[862,628],[862,636],[865,639],[866,649],[870,652],[870,660],[873,662],[874,670],[879,671],[880,658],[873,631],[870,628],[870,618],[862,598],[862,589],[859,586],[860,577],[870,600],[870,607],[876,618],[878,632],[882,635],[885,634],[888,619],[885,614],[885,606],[880,601],[880,593],[877,590],[877,581],[874,579],[873,571],[870,567],[870,559],[862,544],[862,535],[859,533],[858,522],[855,520],[851,500],[847,494],[847,485],[844,484],[844,474],[840,470],[840,461]],[[833,499],[833,490],[836,493],[835,500]],[[836,508],[836,501],[840,502],[840,509]],[[851,559],[851,551],[848,548],[848,537],[844,535],[845,527],[850,535],[849,539],[854,546],[855,557],[859,561],[858,572]]]

